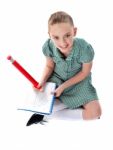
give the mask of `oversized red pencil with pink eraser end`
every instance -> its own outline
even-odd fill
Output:
[[[12,64],[37,88],[39,83],[16,61],[12,56],[7,57],[8,60],[12,62]],[[39,87],[38,89],[40,89]]]

